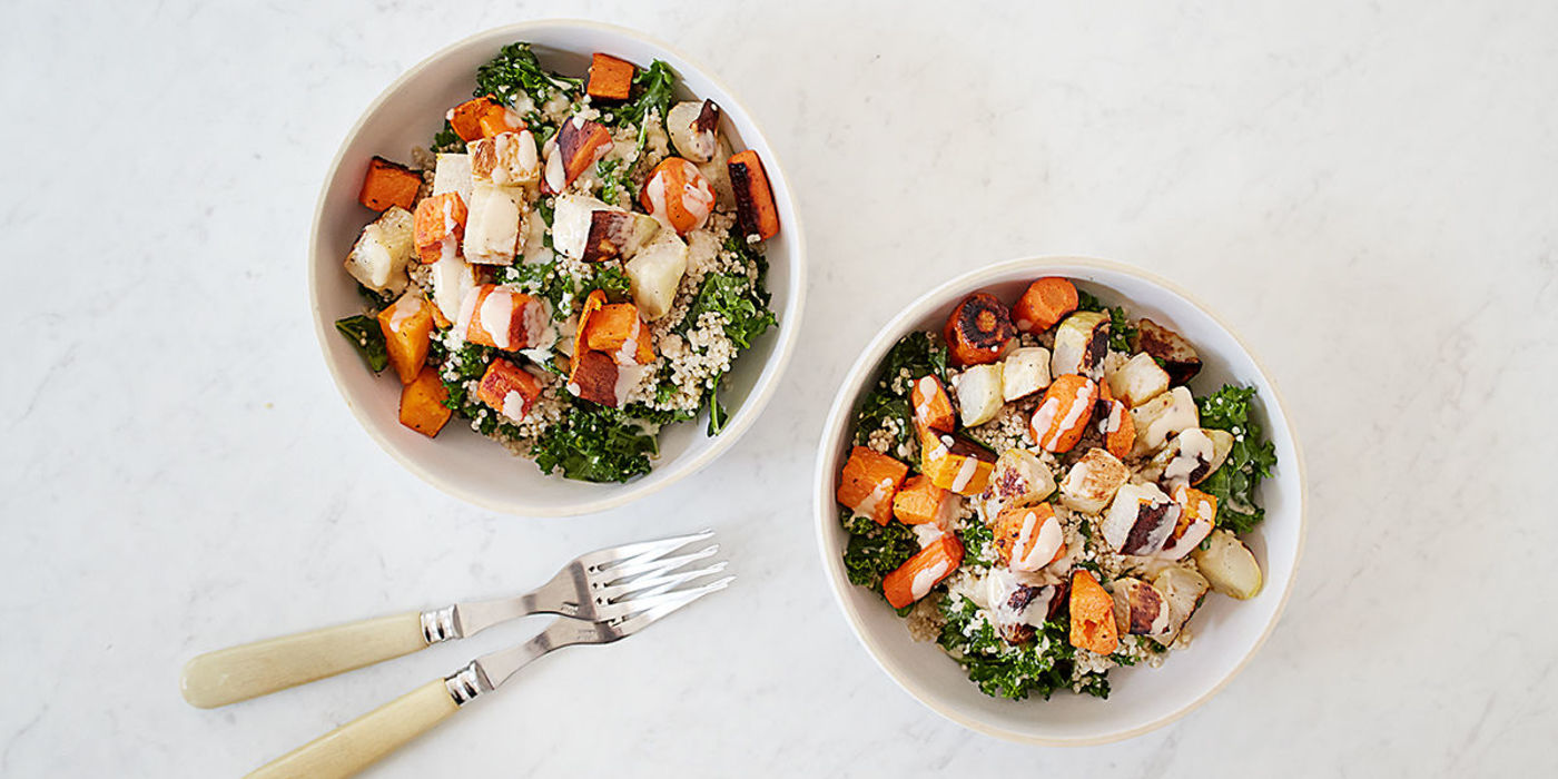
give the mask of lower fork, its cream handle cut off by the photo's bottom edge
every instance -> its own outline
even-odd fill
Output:
[[[631,615],[605,622],[553,620],[536,637],[508,650],[483,654],[469,665],[433,679],[280,757],[260,767],[249,779],[340,779],[368,768],[386,754],[405,746],[435,724],[447,720],[461,706],[499,689],[516,671],[538,657],[576,643],[612,643],[622,640],[667,614],[720,589],[734,576],[724,576],[700,587],[667,592],[645,600],[654,605]],[[623,601],[637,605],[637,598]]]

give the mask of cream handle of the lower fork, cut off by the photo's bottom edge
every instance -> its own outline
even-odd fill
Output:
[[[274,760],[249,779],[340,779],[368,768],[460,707],[444,679],[430,681]]]

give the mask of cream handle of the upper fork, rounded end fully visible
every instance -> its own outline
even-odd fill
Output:
[[[184,700],[212,709],[427,648],[418,611],[218,650],[184,665]]]

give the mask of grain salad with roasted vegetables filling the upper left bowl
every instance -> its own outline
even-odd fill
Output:
[[[400,422],[458,418],[542,472],[648,474],[664,425],[726,424],[720,383],[777,319],[762,159],[665,62],[595,53],[545,70],[519,42],[410,165],[374,157],[379,212],[346,259],[365,312],[337,321],[399,379]]]

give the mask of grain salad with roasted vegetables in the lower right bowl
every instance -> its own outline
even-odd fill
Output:
[[[958,302],[883,358],[837,486],[851,583],[982,692],[1109,695],[1253,598],[1240,536],[1276,464],[1256,393],[1198,393],[1195,347],[1070,279]],[[1200,386],[1200,383],[1197,383]]]

